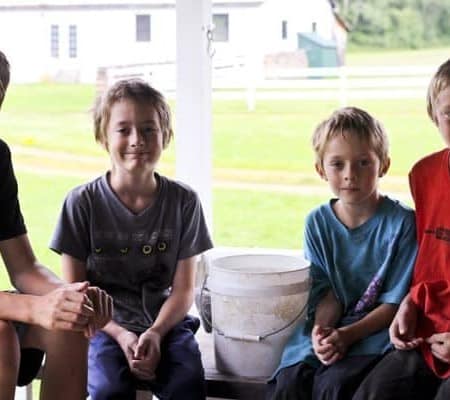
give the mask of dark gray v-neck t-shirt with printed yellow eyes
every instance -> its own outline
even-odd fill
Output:
[[[86,263],[91,285],[114,299],[113,320],[138,332],[151,326],[169,295],[177,262],[212,247],[196,193],[156,177],[157,198],[138,214],[119,200],[107,175],[73,189],[50,243]]]

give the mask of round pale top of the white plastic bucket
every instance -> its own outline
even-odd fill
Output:
[[[301,256],[239,254],[213,259],[211,267],[229,273],[273,274],[305,269],[309,267],[309,263]]]

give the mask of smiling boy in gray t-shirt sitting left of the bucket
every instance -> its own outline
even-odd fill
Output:
[[[155,172],[173,135],[169,107],[147,83],[119,81],[94,125],[111,169],[69,193],[51,242],[66,279],[114,299],[89,346],[89,395],[134,398],[144,383],[160,398],[204,399],[199,321],[187,312],[196,256],[212,243],[196,193]]]

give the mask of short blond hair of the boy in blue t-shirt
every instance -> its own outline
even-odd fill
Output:
[[[389,164],[389,140],[386,130],[368,112],[356,107],[340,108],[317,126],[312,137],[316,164],[323,167],[325,147],[331,139],[347,135],[354,135],[371,146],[380,160],[381,170]]]

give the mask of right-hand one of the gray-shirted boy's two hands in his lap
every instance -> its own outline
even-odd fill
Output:
[[[148,329],[139,337],[131,363],[131,372],[139,379],[154,379],[160,359],[161,336],[152,329]]]

